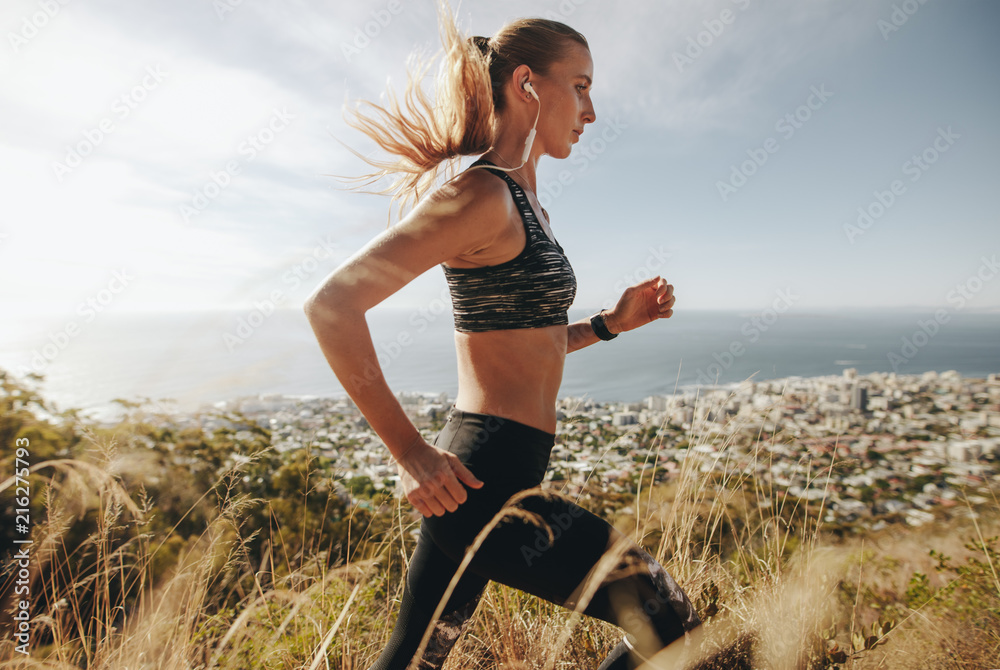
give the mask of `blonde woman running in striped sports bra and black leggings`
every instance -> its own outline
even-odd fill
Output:
[[[625,639],[600,668],[635,668],[699,625],[691,602],[637,544],[537,487],[555,443],[566,354],[670,317],[673,287],[654,277],[626,289],[613,309],[569,323],[576,277],[538,203],[536,166],[543,155],[569,156],[596,120],[587,40],[545,19],[465,39],[446,0],[439,11],[438,99],[428,103],[411,77],[409,114],[393,99],[389,109],[372,105],[381,120],[358,114],[356,124],[399,157],[373,163],[383,168],[376,175],[401,173],[397,197],[417,204],[305,305],[327,361],[423,515],[395,628],[372,668],[440,668],[490,580],[622,627]],[[480,154],[421,198],[442,163]],[[365,313],[435,266],[451,291],[458,394],[431,444],[386,385]],[[495,524],[435,619],[466,549],[519,493],[517,507],[550,532],[523,517]],[[614,569],[595,570],[613,547]]]

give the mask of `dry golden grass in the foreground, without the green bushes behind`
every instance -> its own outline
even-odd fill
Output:
[[[627,525],[618,524],[664,565],[707,619],[686,646],[664,650],[649,668],[688,667],[701,651],[740,636],[754,640],[752,667],[758,668],[1000,666],[997,630],[970,629],[968,619],[958,621],[933,602],[907,605],[915,573],[928,575],[932,590],[948,584],[947,571],[936,570],[928,549],[953,557],[953,563],[975,555],[967,540],[982,542],[997,534],[1000,506],[989,511],[991,519],[978,522],[932,530],[895,525],[863,539],[834,542],[823,533],[825,500],[772,499],[745,469],[735,467],[731,438],[704,434],[699,425],[688,438],[715,451],[689,450],[666,485],[651,485],[652,469],[640,482],[632,515],[622,517]],[[56,603],[35,613],[33,630],[36,638],[43,631],[51,636],[51,644],[25,657],[5,642],[4,667],[354,670],[367,668],[378,655],[401,593],[398,574],[408,558],[402,538],[414,523],[408,505],[397,503],[395,531],[377,540],[383,558],[332,571],[303,569],[265,586],[244,551],[249,538],[240,520],[250,501],[227,496],[201,535],[184,545],[173,572],[153,584],[148,575],[163,538],[144,529],[156,510],[141,489],[125,490],[118,469],[125,461],[114,442],[92,441],[91,461],[33,467],[48,485],[45,520],[34,529],[33,575],[49,577],[33,583],[32,591],[44,591],[46,602]],[[769,465],[768,443],[757,440],[752,463]],[[651,463],[659,446],[651,448]],[[830,476],[817,473],[817,485]],[[0,491],[10,486],[5,482]],[[82,545],[66,546],[67,531],[87,510],[96,510],[97,532]],[[127,527],[134,531],[130,539],[116,541]],[[94,558],[84,566],[77,562],[82,555]],[[609,556],[606,565],[597,566],[590,586],[615,562]],[[56,565],[62,569],[42,570]],[[235,610],[214,612],[213,589],[220,576],[234,573],[251,586]],[[72,577],[62,577],[67,574]],[[985,596],[977,597],[997,607],[1000,581],[994,586],[990,593],[987,580]],[[592,592],[584,585],[581,608]],[[126,600],[134,605],[126,608]],[[873,623],[890,615],[898,623],[879,630],[878,645],[866,650],[871,640],[865,644],[862,638],[860,650],[852,646],[856,633],[869,635]],[[995,624],[1000,612],[984,620]],[[847,651],[844,658],[836,655],[830,637]],[[620,639],[621,631],[609,624],[491,583],[446,667],[596,667]]]

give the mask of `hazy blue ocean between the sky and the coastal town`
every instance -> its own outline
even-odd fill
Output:
[[[570,321],[593,310],[570,310]],[[416,310],[367,315],[394,391],[454,397],[453,322]],[[188,410],[241,396],[338,396],[343,389],[300,309],[272,314],[99,314],[91,322],[33,317],[5,326],[0,368],[44,377],[60,410],[96,414],[116,398],[172,400]],[[399,344],[403,342],[403,344]],[[682,311],[566,359],[560,395],[639,401],[697,385],[784,377],[957,370],[1000,372],[1000,314],[776,314]]]

